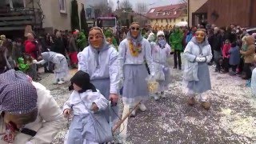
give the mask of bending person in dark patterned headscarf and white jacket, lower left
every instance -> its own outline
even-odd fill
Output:
[[[0,110],[1,144],[51,143],[64,122],[50,91],[14,70],[0,74]]]

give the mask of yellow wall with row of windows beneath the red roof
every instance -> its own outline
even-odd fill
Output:
[[[174,26],[177,22],[187,22],[188,20],[188,17],[187,16],[182,16],[182,17],[179,17],[179,18],[168,18],[168,19],[150,19],[150,26]]]

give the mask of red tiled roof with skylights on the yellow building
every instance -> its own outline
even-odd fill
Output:
[[[147,13],[146,16],[149,18],[178,18],[182,14],[184,14],[184,10],[187,9],[186,4],[177,4],[177,5],[169,5],[169,6],[160,6],[151,8]]]

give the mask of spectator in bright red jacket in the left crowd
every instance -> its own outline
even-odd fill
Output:
[[[27,34],[27,40],[24,42],[25,45],[25,54],[30,54],[31,57],[37,59],[37,46],[34,41],[33,34]]]

